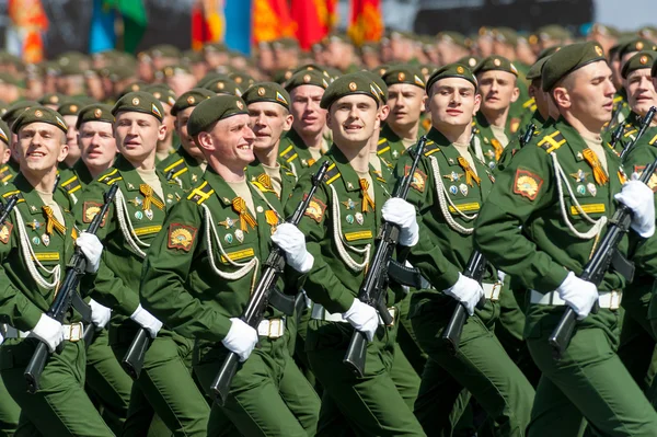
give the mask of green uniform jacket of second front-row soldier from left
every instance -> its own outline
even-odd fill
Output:
[[[157,174],[164,199],[154,191],[146,196],[145,189],[149,186],[130,162],[118,157],[113,168],[87,187],[83,198],[74,207],[77,223],[85,229],[104,203],[105,192],[113,184],[119,186],[107,217],[96,232],[105,249],[93,287],[94,290],[114,295],[118,308],[107,307],[122,315],[130,315],[137,309],[143,255],[162,229],[166,210],[182,197],[175,183],[166,182],[159,170]],[[145,189],[141,188],[142,185]],[[125,320],[115,314],[112,323],[123,323]]]

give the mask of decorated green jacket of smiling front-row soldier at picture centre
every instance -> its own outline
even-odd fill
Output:
[[[314,174],[322,162],[331,165],[324,182],[306,210],[299,229],[306,234],[308,251],[314,264],[303,289],[313,302],[328,312],[346,312],[358,295],[367,264],[374,254],[374,238],[381,225],[381,207],[390,197],[388,182],[370,174],[374,189],[374,207],[364,210],[364,191],[359,177],[343,152],[334,145],[310,168]],[[310,189],[310,179],[301,177],[286,207],[290,214]],[[369,195],[368,195],[369,198]],[[388,304],[401,300],[402,294],[389,290]]]

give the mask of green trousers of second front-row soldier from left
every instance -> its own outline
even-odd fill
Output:
[[[110,344],[120,360],[137,325],[110,330]],[[132,383],[124,436],[145,436],[152,411],[174,436],[206,436],[210,407],[192,377],[193,348],[193,341],[160,330],[146,353],[141,375]]]

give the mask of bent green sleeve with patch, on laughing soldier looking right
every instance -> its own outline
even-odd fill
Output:
[[[196,205],[182,200],[171,208],[143,263],[139,299],[143,308],[181,335],[220,342],[230,330],[230,319],[203,304],[186,288],[198,240],[206,231],[201,223],[201,210]],[[185,235],[180,242],[171,240],[176,230]]]

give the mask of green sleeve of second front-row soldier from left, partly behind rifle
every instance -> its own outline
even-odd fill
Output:
[[[73,212],[76,216],[76,225],[78,229],[85,230],[89,228],[90,221],[87,217],[88,208],[90,206],[96,207],[97,205],[104,204],[103,194],[105,187],[100,183],[92,183],[88,186],[81,196],[81,199],[76,204]],[[116,209],[114,205],[110,206],[107,210],[107,218],[103,220],[101,227],[96,231],[96,235],[102,243],[111,235],[117,228]],[[103,244],[105,245],[105,244]],[[101,256],[101,264],[95,275],[84,275],[81,280],[81,290],[87,290],[87,295],[104,304],[107,308],[116,311],[123,315],[130,315],[137,310],[139,306],[139,297],[137,290],[132,290],[125,286],[124,281],[114,275],[114,272],[105,264],[106,251],[103,250]]]

